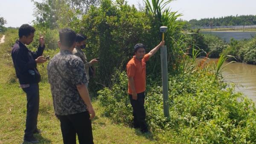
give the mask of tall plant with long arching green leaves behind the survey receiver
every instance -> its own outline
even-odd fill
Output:
[[[171,11],[167,5],[173,0],[144,0],[148,13],[157,21],[156,28],[160,26],[167,26],[168,31],[166,32],[165,42],[167,45],[169,70],[179,71],[179,58],[182,57],[182,48],[180,45],[183,45],[181,39],[183,38],[182,26],[183,23],[177,22],[177,18],[182,16],[178,14],[177,11]],[[159,37],[161,34],[159,33]]]

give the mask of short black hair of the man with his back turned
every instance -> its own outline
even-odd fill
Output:
[[[70,48],[76,41],[76,32],[70,28],[63,28],[59,31],[61,45]]]

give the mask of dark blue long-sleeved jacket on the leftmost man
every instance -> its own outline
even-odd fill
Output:
[[[16,41],[12,48],[12,61],[20,84],[34,84],[41,81],[35,59],[42,56],[44,47],[39,45],[36,52],[30,51],[22,42]],[[30,72],[29,72],[30,71]],[[31,73],[32,71],[32,73]],[[34,72],[33,72],[34,71]]]

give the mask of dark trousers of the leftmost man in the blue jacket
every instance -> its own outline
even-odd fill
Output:
[[[28,88],[23,88],[27,98],[26,129],[24,138],[33,136],[37,129],[37,118],[39,111],[39,85],[30,84]]]

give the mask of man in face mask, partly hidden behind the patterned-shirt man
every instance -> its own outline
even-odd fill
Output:
[[[84,62],[86,76],[87,76],[87,79],[89,80],[89,78],[90,78],[89,68],[91,66],[93,66],[94,64],[96,64],[98,62],[98,60],[92,59],[90,62],[87,62],[87,57],[85,56],[85,54],[82,51],[82,49],[84,49],[86,46],[86,40],[87,40],[87,37],[84,34],[77,34],[76,35],[76,48],[74,48],[72,53],[74,55],[80,57],[82,59],[82,61]],[[86,86],[88,87],[88,83],[86,84]]]

